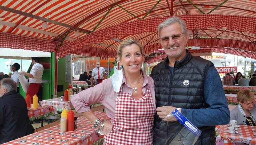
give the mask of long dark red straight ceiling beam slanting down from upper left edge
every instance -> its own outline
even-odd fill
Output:
[[[61,23],[61,22],[53,21],[53,20],[50,20],[50,19],[47,19],[47,18],[44,18],[44,17],[32,15],[32,14],[22,12],[22,11],[19,11],[19,10],[15,10],[15,9],[12,9],[12,8],[8,8],[8,7],[5,7],[5,6],[0,6],[0,9],[4,10],[4,11],[7,11],[7,12],[11,12],[11,13],[19,14],[19,15],[22,15],[22,16],[34,18],[34,19],[37,19],[37,20],[49,22],[49,23],[52,23],[52,24],[60,25],[60,26],[63,26],[63,27],[67,27],[67,28],[70,28],[72,30],[77,30],[77,31],[80,31],[80,32],[83,32],[83,33],[90,33],[91,32],[91,31],[88,31],[88,30],[85,30],[85,29],[81,29],[81,28],[78,28],[78,27],[75,27],[75,26],[71,26],[71,25],[68,25],[68,24]]]

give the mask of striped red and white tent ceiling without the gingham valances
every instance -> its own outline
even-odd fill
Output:
[[[252,18],[256,16],[255,0],[173,0],[173,9],[172,0],[3,0],[0,4],[0,32],[9,33],[10,36],[36,38],[35,40],[39,38],[41,39],[40,44],[51,44],[51,47],[47,45],[47,47],[40,46],[40,50],[43,51],[58,51],[59,42],[64,40],[64,37],[66,39],[63,45],[71,42],[82,43],[79,38],[82,39],[90,35],[87,33],[93,34],[114,25],[138,21],[139,19],[169,17],[171,13],[175,16],[207,13]],[[44,21],[48,22],[48,28],[46,29],[42,28]],[[243,25],[243,23],[237,25]],[[253,27],[256,27],[255,24],[253,24]],[[79,36],[75,35],[77,30],[80,31]],[[255,31],[226,30],[224,26],[218,29],[208,27],[194,30],[197,34],[196,38],[214,38],[217,36],[216,38],[250,43],[256,41]],[[79,50],[71,50],[69,54],[90,54],[96,49],[91,56],[97,56],[98,52],[104,52],[104,57],[112,57],[120,43],[118,40],[129,37],[140,40],[144,46],[159,43],[156,31],[145,31],[133,35],[104,39],[90,45],[83,45],[82,43]],[[193,35],[190,38],[193,39]],[[53,49],[54,47],[55,49]],[[37,48],[37,45],[34,45],[34,48],[31,49],[34,50],[35,48]],[[26,47],[24,49],[30,48]],[[99,53],[98,55],[102,54]]]

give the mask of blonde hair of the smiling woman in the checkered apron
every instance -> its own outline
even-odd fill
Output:
[[[139,46],[140,53],[143,56],[143,46],[141,45],[141,43],[138,40],[136,40],[136,39],[128,38],[128,39],[123,40],[119,44],[119,46],[117,48],[117,58],[121,59],[122,54],[123,54],[123,48],[126,47],[126,46],[130,46],[132,44],[136,44],[136,45]]]

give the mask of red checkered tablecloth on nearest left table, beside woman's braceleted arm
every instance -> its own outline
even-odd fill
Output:
[[[105,112],[96,111],[94,114],[101,120],[110,121]],[[4,144],[89,145],[93,144],[99,138],[103,138],[103,136],[96,133],[96,129],[93,127],[93,124],[82,116],[77,118],[77,129],[74,131],[61,133],[60,125],[56,125]]]

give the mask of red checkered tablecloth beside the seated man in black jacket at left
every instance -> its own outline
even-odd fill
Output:
[[[33,104],[31,104],[31,109],[28,110],[28,117],[30,121],[39,120],[49,115],[58,116],[57,110],[53,106],[40,106],[37,109],[33,109]]]

